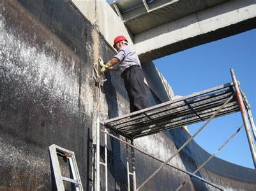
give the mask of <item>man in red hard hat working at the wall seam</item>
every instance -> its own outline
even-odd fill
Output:
[[[117,36],[113,46],[118,53],[103,65],[102,71],[114,70],[113,66],[119,64],[121,77],[130,100],[130,112],[148,108],[150,106],[149,95],[144,84],[144,74],[137,53],[131,46],[128,46],[128,41],[124,36]]]

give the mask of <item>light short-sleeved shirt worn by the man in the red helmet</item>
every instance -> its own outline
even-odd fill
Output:
[[[119,68],[121,73],[123,73],[124,69],[133,65],[141,67],[137,53],[128,45],[122,46],[114,57],[120,60]]]

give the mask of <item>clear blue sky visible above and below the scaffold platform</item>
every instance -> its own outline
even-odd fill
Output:
[[[241,89],[252,106],[255,121],[256,29],[174,53],[154,60],[154,64],[169,81],[175,95],[188,95],[231,82],[230,68],[234,68]],[[216,118],[195,137],[195,141],[213,153],[241,124],[240,113]],[[190,125],[190,132],[193,134],[201,126],[202,123]],[[216,157],[254,168],[245,128]]]

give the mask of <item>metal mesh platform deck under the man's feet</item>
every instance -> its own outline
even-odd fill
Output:
[[[105,127],[130,139],[167,131],[207,120],[232,95],[234,97],[231,101],[216,115],[216,117],[220,117],[239,111],[233,83],[226,83],[144,110],[112,118],[105,122]]]

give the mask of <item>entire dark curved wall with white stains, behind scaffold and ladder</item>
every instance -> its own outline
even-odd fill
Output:
[[[54,190],[48,152],[53,143],[75,152],[84,190],[91,190],[97,103],[93,64],[115,52],[70,1],[0,0],[0,5],[0,190]],[[154,70],[144,66],[146,76]],[[105,77],[102,122],[129,111],[122,78],[116,71]],[[158,104],[163,89],[151,92],[153,85],[151,104]],[[176,129],[136,139],[135,145],[165,160],[188,136]],[[109,190],[127,190],[126,147],[110,138],[108,147]],[[171,163],[193,171],[207,155],[192,143]],[[140,185],[160,164],[138,152],[135,158]],[[68,176],[68,166],[61,162],[61,167]],[[253,169],[220,159],[199,175],[229,190],[256,190]],[[165,167],[142,190],[174,190],[184,178],[188,175]],[[214,189],[192,179],[184,190]]]

